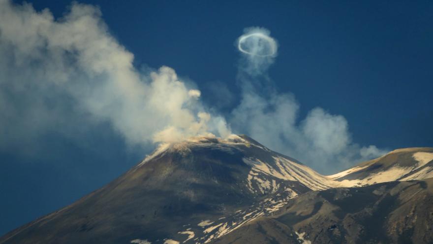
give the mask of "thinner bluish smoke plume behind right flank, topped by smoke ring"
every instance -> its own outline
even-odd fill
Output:
[[[362,147],[351,139],[347,120],[321,107],[298,117],[300,105],[292,94],[280,94],[267,70],[278,54],[277,41],[264,28],[248,28],[237,39],[241,54],[239,75],[242,100],[230,119],[233,130],[290,155],[321,173],[350,167],[386,151]]]

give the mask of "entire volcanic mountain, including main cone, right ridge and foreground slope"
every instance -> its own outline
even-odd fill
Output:
[[[164,144],[0,244],[432,243],[432,180],[396,181],[431,177],[432,152],[325,176],[243,135]]]

